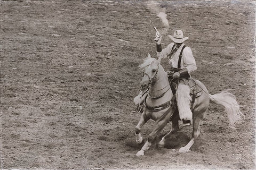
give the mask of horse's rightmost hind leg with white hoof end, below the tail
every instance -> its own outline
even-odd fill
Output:
[[[204,113],[202,115],[204,115]],[[179,149],[180,152],[188,152],[189,149],[194,145],[196,139],[199,137],[200,123],[201,123],[202,118],[199,117],[198,115],[195,115],[195,118],[193,117],[193,119],[194,120],[193,120],[192,138],[185,147],[182,147],[182,148]]]

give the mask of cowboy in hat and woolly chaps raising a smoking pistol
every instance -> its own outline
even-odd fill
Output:
[[[173,79],[178,79],[178,88],[176,91],[176,99],[179,110],[180,119],[183,126],[190,125],[193,114],[190,110],[190,88],[188,81],[190,73],[196,70],[196,61],[192,54],[191,48],[185,46],[184,41],[188,37],[183,37],[181,30],[176,30],[173,36],[169,35],[173,43],[162,49],[162,36],[156,34],[157,57],[168,58],[171,65],[171,71],[174,71]]]

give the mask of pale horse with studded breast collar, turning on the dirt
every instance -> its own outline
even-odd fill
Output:
[[[148,135],[146,143],[143,145],[140,151],[137,152],[137,156],[143,156],[147,151],[156,135],[159,134],[167,124],[172,122],[172,129],[167,133],[159,145],[163,146],[169,136],[179,130],[179,114],[177,114],[177,108],[175,105],[175,98],[173,98],[172,90],[169,84],[167,73],[164,71],[161,63],[161,58],[156,60],[151,58],[150,54],[139,67],[143,69],[143,78],[140,82],[142,91],[148,89],[148,95],[143,103],[143,113],[141,115],[138,125],[135,127],[136,142],[142,143],[143,138],[140,130],[142,126],[151,118],[156,121],[154,130]],[[198,86],[202,88],[202,95],[195,99],[195,103],[192,108],[193,112],[193,133],[192,138],[185,147],[179,149],[181,152],[187,152],[198,138],[200,131],[199,125],[203,119],[210,101],[216,104],[224,106],[228,115],[229,123],[234,126],[235,122],[241,120],[243,116],[239,109],[236,98],[234,95],[227,91],[222,91],[219,94],[210,95],[205,88],[204,84],[198,81]],[[134,101],[138,100],[134,98]]]

